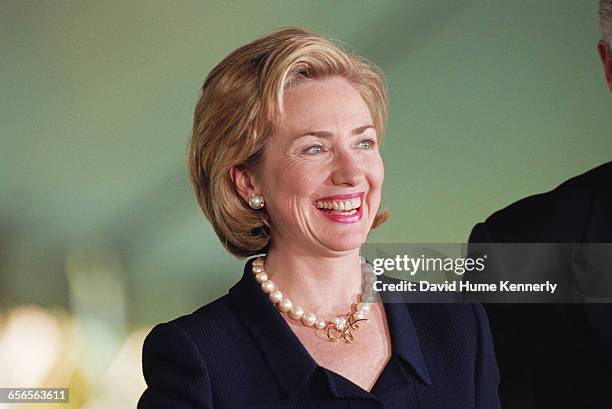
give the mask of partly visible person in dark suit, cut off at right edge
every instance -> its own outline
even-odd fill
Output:
[[[597,48],[612,91],[611,0],[600,0],[599,25],[602,40]],[[469,241],[612,243],[612,162],[495,212],[474,227]],[[600,248],[610,250],[612,245]],[[610,261],[610,256],[605,260]],[[584,267],[585,260],[578,259],[576,252],[559,254],[554,260],[553,270],[560,279],[580,282],[592,278],[589,275],[609,275],[610,263],[602,263],[601,258],[601,269],[581,271],[576,267]],[[612,304],[486,304],[485,308],[504,408],[612,408]]]

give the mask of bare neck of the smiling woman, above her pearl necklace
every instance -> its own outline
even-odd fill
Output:
[[[290,246],[272,246],[265,271],[283,297],[323,319],[346,314],[361,293],[359,249],[313,256]]]

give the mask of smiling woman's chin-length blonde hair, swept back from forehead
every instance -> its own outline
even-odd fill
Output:
[[[196,198],[223,245],[237,257],[265,252],[270,229],[265,208],[251,209],[230,169],[257,174],[263,149],[279,123],[287,87],[341,76],[368,105],[379,139],[387,120],[382,73],[332,40],[300,28],[273,31],[225,57],[208,74],[195,108],[187,165]],[[388,217],[376,215],[375,228]]]

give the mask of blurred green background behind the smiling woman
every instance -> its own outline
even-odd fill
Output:
[[[297,25],[379,65],[392,222],[370,240],[464,242],[611,159],[596,3],[0,1],[0,386],[134,407],[150,327],[238,280],[185,167],[200,86],[236,47]]]

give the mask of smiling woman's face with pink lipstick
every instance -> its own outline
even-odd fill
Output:
[[[285,93],[259,186],[273,248],[311,253],[361,246],[384,178],[373,125],[365,101],[343,78],[305,81]]]

